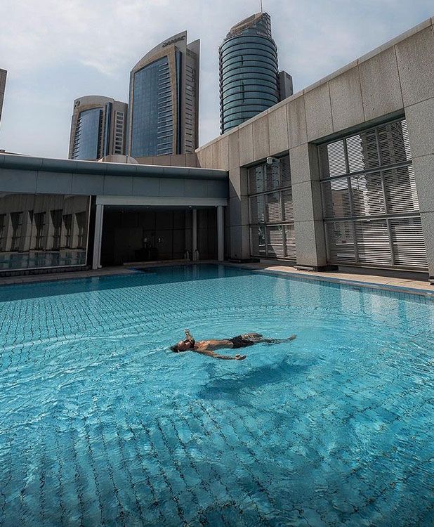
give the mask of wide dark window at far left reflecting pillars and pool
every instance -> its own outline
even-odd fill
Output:
[[[88,196],[2,194],[0,271],[86,264]]]

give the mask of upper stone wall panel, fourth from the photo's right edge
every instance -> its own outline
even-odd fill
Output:
[[[329,84],[321,84],[304,96],[308,141],[315,141],[333,133]]]

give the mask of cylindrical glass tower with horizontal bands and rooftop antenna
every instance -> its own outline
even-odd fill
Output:
[[[268,13],[231,27],[219,50],[221,133],[292,95],[292,77],[277,67]]]

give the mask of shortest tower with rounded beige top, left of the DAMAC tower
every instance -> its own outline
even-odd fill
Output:
[[[99,160],[125,155],[128,106],[110,97],[89,95],[74,100],[70,160]]]

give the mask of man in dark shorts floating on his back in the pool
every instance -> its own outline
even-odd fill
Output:
[[[179,353],[180,351],[195,351],[196,353],[202,353],[213,358],[221,358],[223,360],[244,360],[245,355],[237,353],[235,356],[220,355],[215,353],[218,349],[238,349],[253,346],[254,344],[282,344],[282,342],[288,342],[294,340],[296,335],[291,335],[287,339],[265,339],[259,333],[245,333],[232,337],[232,339],[210,339],[210,340],[199,340],[195,341],[190,333],[190,330],[185,331],[185,339],[180,340],[178,344],[171,346],[171,351]]]

